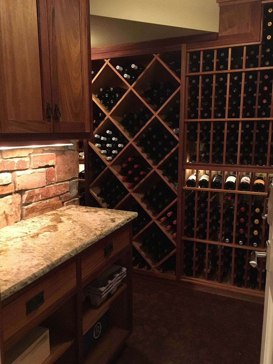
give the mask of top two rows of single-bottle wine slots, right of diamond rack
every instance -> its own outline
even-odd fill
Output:
[[[217,70],[219,51],[221,48],[214,51],[214,60],[211,63],[214,66],[212,67],[211,61],[209,61],[209,65],[205,66],[206,57],[211,52],[201,51],[195,59],[195,64],[193,64],[192,58],[196,56],[197,52],[189,55],[187,120],[272,118],[270,104],[273,72],[260,67],[259,48],[254,46],[232,47],[228,52],[225,48],[225,52],[221,53],[227,54],[229,67],[226,70]],[[272,58],[272,47],[270,51]],[[201,59],[201,55],[203,63],[198,60]],[[211,55],[209,60],[210,58]],[[199,72],[202,64],[205,69],[201,67],[200,76],[194,75],[196,71],[191,72],[191,69],[196,70],[199,67]],[[209,70],[207,70],[208,68]],[[236,72],[230,72],[230,70],[236,70]],[[225,73],[227,71],[230,73]],[[202,72],[206,72],[206,75],[202,75]]]

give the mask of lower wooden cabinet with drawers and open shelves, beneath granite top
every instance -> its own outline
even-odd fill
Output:
[[[112,264],[126,277],[99,305],[83,289]],[[108,329],[83,351],[83,336],[109,310]],[[132,332],[132,223],[127,223],[1,301],[0,355],[37,325],[49,329],[50,356],[43,364],[107,364]],[[1,327],[2,325],[2,327]]]

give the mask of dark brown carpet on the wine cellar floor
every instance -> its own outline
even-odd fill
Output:
[[[260,362],[263,305],[140,279],[133,297],[133,333],[115,364]]]

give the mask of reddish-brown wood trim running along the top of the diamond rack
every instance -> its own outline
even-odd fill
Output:
[[[96,47],[91,49],[91,59],[106,59],[128,55],[152,54],[170,50],[181,50],[181,44],[202,41],[213,41],[218,33],[211,32],[199,35],[149,40],[136,43],[118,44],[116,46]],[[177,47],[175,47],[177,46]],[[174,49],[170,49],[174,47]]]

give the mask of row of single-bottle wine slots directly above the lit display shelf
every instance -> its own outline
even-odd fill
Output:
[[[273,163],[270,158],[271,136],[272,125],[268,120],[202,122],[199,126],[190,122],[186,134],[187,161],[269,166]]]

